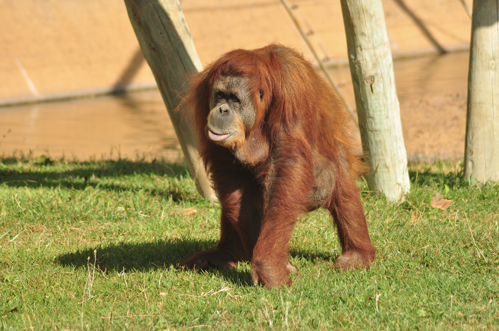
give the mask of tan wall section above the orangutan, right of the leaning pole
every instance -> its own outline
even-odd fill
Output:
[[[472,0],[466,0],[471,7]],[[288,0],[302,28],[324,60],[346,60],[339,0]],[[279,0],[182,0],[187,23],[202,62],[237,47],[277,41],[294,45],[312,59]],[[471,19],[456,0],[383,0],[392,52],[411,55],[469,47]]]

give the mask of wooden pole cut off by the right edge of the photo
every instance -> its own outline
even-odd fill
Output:
[[[499,2],[474,0],[468,73],[465,178],[499,180]]]

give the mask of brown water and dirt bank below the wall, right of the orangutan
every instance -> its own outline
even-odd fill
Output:
[[[468,58],[468,52],[458,52],[394,61],[409,160],[463,158]],[[355,108],[348,67],[331,73],[347,103]]]

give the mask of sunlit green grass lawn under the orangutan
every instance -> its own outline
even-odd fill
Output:
[[[498,330],[499,186],[460,170],[411,164],[398,206],[362,193],[367,271],[334,270],[330,217],[304,215],[292,287],[265,290],[248,264],[175,268],[219,236],[184,165],[0,159],[0,330]],[[436,192],[456,201],[433,209]]]

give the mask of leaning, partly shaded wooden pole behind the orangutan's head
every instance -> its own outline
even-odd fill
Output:
[[[203,67],[178,0],[125,0],[140,48],[158,84],[166,109],[184,152],[189,171],[202,196],[214,199],[199,161],[197,137],[182,111],[174,112],[187,91],[188,77]]]

